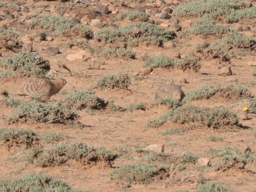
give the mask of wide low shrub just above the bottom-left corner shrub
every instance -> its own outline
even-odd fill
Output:
[[[92,166],[98,162],[104,166],[112,166],[112,162],[118,154],[111,152],[104,147],[87,146],[83,143],[56,144],[46,150],[34,148],[28,155],[30,163],[41,167],[59,166],[73,159],[80,166]]]

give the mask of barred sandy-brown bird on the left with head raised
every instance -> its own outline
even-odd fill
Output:
[[[51,81],[45,78],[31,77],[20,83],[17,94],[20,96],[38,94],[41,101],[46,101],[57,94],[65,84],[66,80],[62,78]]]

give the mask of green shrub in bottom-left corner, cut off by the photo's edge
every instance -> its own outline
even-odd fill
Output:
[[[82,192],[72,190],[65,182],[44,174],[29,173],[18,178],[1,178],[0,188],[2,192]]]

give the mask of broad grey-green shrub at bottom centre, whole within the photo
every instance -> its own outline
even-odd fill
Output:
[[[112,179],[120,179],[126,182],[135,182],[148,184],[157,176],[166,174],[166,169],[157,169],[156,166],[149,166],[146,164],[130,164],[122,165],[119,168],[115,168],[110,176]]]

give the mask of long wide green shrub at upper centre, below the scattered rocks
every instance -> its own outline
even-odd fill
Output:
[[[143,22],[120,28],[102,28],[95,33],[94,38],[104,43],[122,42],[124,44],[134,39],[141,42],[153,40],[155,44],[160,45],[164,41],[176,38],[176,34],[155,24]]]

